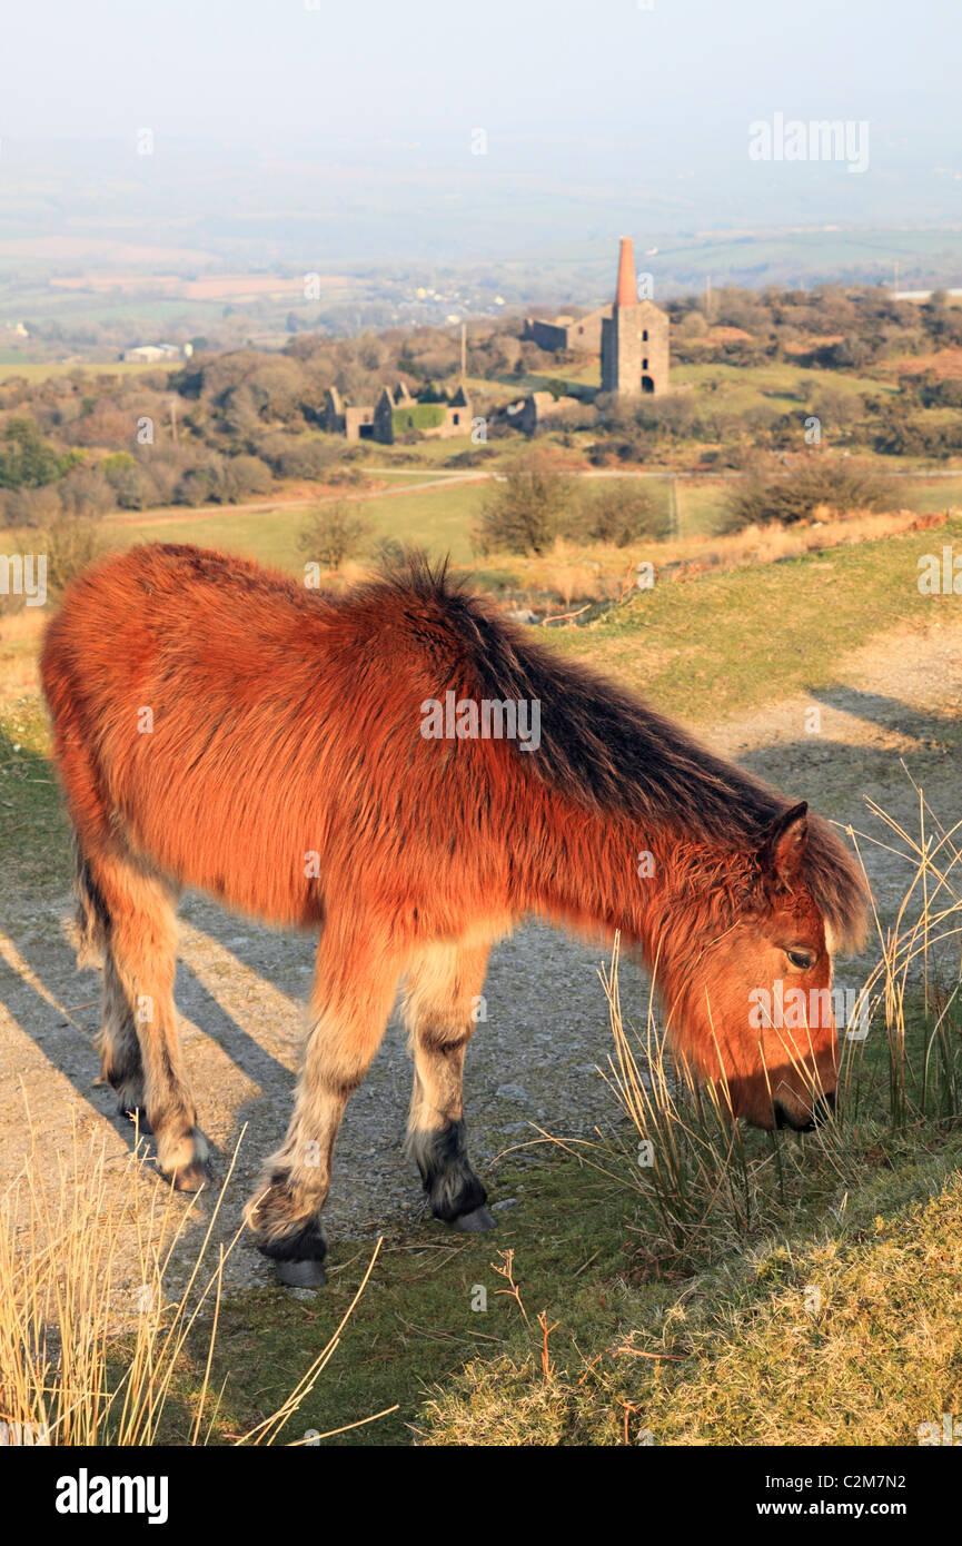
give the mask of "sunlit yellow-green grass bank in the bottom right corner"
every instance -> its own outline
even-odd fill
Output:
[[[920,1424],[940,1424],[962,1402],[960,1156],[956,1139],[868,1180],[823,1218],[681,1289],[612,1285],[616,1337],[586,1342],[575,1331],[563,1350],[574,1316],[571,1299],[557,1296],[552,1377],[537,1347],[515,1337],[428,1404],[425,1439],[917,1444]]]

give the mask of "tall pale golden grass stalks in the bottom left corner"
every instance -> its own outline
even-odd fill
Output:
[[[224,1263],[240,1231],[209,1257],[234,1161],[200,1246],[186,1248],[196,1200],[184,1206],[172,1187],[141,1186],[142,1153],[124,1161],[127,1184],[118,1187],[116,1178],[108,1184],[104,1138],[82,1142],[74,1135],[70,1161],[51,1173],[37,1155],[40,1133],[29,1113],[28,1124],[31,1153],[0,1198],[0,1442],[223,1439],[210,1370]],[[230,1442],[280,1438],[333,1357],[379,1246],[340,1325],[288,1399]],[[172,1289],[175,1275],[179,1286]]]

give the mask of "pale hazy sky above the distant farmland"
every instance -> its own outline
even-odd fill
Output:
[[[580,261],[622,230],[662,250],[824,226],[954,243],[957,5],[9,0],[0,240],[322,264]],[[752,159],[775,114],[866,124],[866,175]]]

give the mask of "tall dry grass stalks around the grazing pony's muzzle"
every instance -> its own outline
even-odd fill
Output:
[[[897,852],[911,872],[892,923],[883,923],[874,909],[877,959],[852,991],[852,1023],[838,1025],[837,1116],[810,1138],[838,1181],[857,1180],[865,1152],[860,1122],[882,1121],[897,1133],[954,1124],[962,1116],[956,1003],[962,988],[962,819],[947,827],[923,792],[913,788],[916,830],[869,799],[885,836],[849,832],[857,850],[875,844]],[[733,1237],[745,1237],[758,1214],[766,1172],[775,1166],[778,1192],[789,1198],[803,1180],[801,1150],[775,1133],[772,1152],[749,1158],[730,1116],[724,1076],[699,1084],[685,1064],[671,1059],[651,1003],[643,1036],[625,1027],[617,946],[603,983],[614,1037],[609,1082],[639,1139],[651,1144],[651,1166],[633,1167],[634,1183],[648,1194],[667,1238],[682,1255],[704,1238],[710,1218]],[[807,1070],[792,1061],[817,1096]],[[786,1186],[786,1164],[797,1170],[792,1187]]]

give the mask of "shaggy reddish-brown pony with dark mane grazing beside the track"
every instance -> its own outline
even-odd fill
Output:
[[[331,597],[136,547],[70,587],[43,686],[105,962],[104,1073],[178,1187],[207,1178],[172,997],[178,889],[320,935],[294,1116],[249,1206],[285,1282],[323,1282],[337,1127],[402,979],[430,1206],[490,1226],[461,1074],[490,945],[527,914],[620,929],[656,963],[676,1048],[735,1116],[806,1129],[832,1104],[831,1013],[789,1030],[750,1008],[776,982],[827,999],[831,952],[858,937],[829,826],[424,561]]]

